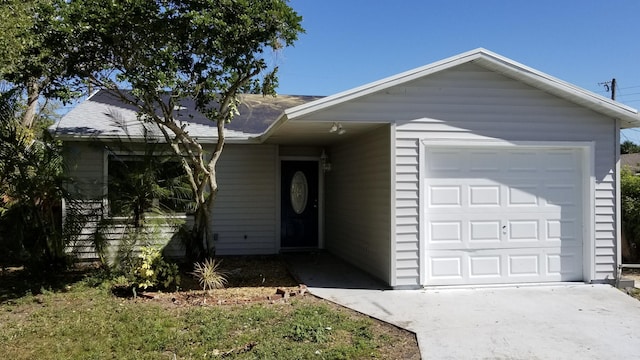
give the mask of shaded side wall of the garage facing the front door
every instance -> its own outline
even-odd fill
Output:
[[[389,283],[391,175],[388,126],[328,149],[326,247]]]

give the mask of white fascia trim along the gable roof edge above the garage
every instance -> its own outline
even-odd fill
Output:
[[[285,111],[286,116],[279,119],[277,123],[274,123],[272,128],[277,128],[281,122],[294,120],[328,107],[333,107],[374,92],[383,91],[390,87],[404,84],[469,62],[474,62],[487,69],[501,73],[515,80],[519,80],[532,87],[538,88],[560,98],[564,98],[611,118],[620,119],[622,127],[640,127],[640,117],[638,116],[638,111],[634,108],[547,75],[489,50],[478,48],[448,59],[400,73],[398,75],[356,87],[351,90],[302,104],[294,108],[289,108]],[[267,131],[270,132],[270,129]]]

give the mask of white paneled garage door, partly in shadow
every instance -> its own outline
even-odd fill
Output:
[[[582,279],[582,162],[568,148],[427,148],[427,285]]]

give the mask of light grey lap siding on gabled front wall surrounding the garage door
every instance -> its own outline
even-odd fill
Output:
[[[469,63],[334,110],[343,121],[395,122],[395,286],[420,284],[422,140],[594,141],[596,280],[615,270],[615,146],[612,119]],[[332,118],[331,110],[323,114]],[[588,203],[586,204],[589,205]]]

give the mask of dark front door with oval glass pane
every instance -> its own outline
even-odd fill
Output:
[[[318,162],[282,161],[280,246],[318,246]]]

